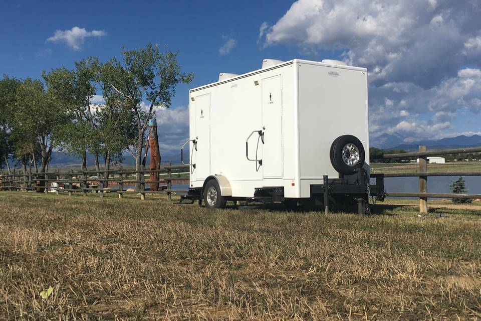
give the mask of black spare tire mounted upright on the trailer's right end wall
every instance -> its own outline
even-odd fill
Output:
[[[355,157],[357,161],[353,162],[352,164],[348,164],[343,160],[343,149],[349,144],[354,145],[354,151],[358,153],[358,157]],[[350,151],[347,151],[347,156],[349,158]],[[361,141],[353,135],[339,136],[331,145],[330,157],[332,167],[334,167],[337,172],[344,175],[352,175],[356,173],[357,169],[362,168],[364,165],[365,156],[366,153]]]

